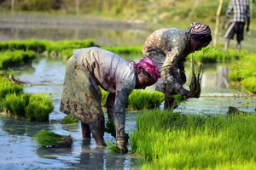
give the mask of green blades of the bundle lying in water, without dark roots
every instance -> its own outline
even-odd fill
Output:
[[[42,147],[61,144],[64,138],[65,136],[63,135],[52,133],[49,131],[41,131],[37,134],[38,144]]]

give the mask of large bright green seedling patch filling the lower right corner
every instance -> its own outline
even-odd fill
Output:
[[[140,169],[255,169],[256,116],[144,111],[131,133]]]

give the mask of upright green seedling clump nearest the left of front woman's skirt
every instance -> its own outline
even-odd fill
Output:
[[[26,106],[26,116],[28,121],[47,122],[49,121],[49,113],[54,111],[49,95],[33,94]]]

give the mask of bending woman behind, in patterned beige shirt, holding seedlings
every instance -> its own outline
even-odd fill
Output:
[[[143,55],[154,59],[160,69],[161,79],[156,90],[165,93],[165,109],[175,109],[173,94],[189,98],[189,91],[183,88],[187,81],[184,62],[188,54],[201,50],[212,41],[209,26],[193,22],[189,31],[175,28],[154,31],[145,42]]]

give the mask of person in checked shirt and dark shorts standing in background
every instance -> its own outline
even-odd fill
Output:
[[[233,11],[233,18],[230,20],[230,24],[228,27],[228,30],[225,34],[225,51],[227,52],[229,46],[230,46],[230,39],[234,39],[234,35],[236,34],[236,42],[237,42],[237,50],[241,51],[241,41],[244,39],[244,26],[246,24],[247,19],[247,28],[246,30],[249,31],[250,26],[250,8],[249,3],[247,0],[231,0],[229,4],[229,8],[226,12],[224,22],[222,25],[222,28],[224,29],[224,26],[226,22],[230,18],[230,14]]]

